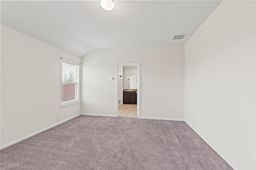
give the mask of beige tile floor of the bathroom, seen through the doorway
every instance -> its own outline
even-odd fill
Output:
[[[137,117],[136,104],[122,104],[118,107],[118,116],[122,117]]]

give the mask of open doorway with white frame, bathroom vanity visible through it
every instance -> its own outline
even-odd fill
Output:
[[[140,118],[140,63],[116,64],[116,117]]]

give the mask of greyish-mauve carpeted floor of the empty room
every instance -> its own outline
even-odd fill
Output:
[[[185,122],[78,116],[0,150],[1,170],[231,170]]]

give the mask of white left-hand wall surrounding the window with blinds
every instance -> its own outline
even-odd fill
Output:
[[[60,107],[60,57],[81,62],[1,25],[1,147],[80,114],[80,104]]]

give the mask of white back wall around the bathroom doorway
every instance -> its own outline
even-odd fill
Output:
[[[140,63],[140,117],[184,119],[184,45],[94,50],[82,63],[82,113],[115,116],[109,77],[116,78],[116,63]]]

